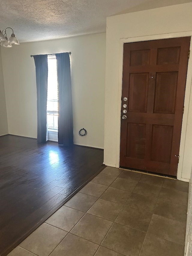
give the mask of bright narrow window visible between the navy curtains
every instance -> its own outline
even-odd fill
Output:
[[[47,127],[49,140],[57,141],[58,134],[58,84],[55,55],[48,56]],[[54,136],[54,134],[56,136]]]

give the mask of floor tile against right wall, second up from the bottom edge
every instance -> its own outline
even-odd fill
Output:
[[[185,228],[184,222],[153,214],[147,233],[183,245]]]

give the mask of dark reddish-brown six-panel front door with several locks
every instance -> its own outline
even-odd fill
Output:
[[[190,37],[124,44],[121,167],[177,175],[189,46]]]

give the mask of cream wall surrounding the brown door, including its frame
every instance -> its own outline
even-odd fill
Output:
[[[192,3],[107,18],[104,163],[119,167],[123,43],[192,35]],[[192,49],[192,48],[191,48]],[[192,52],[192,51],[191,51]],[[189,59],[178,179],[192,164],[192,57]]]

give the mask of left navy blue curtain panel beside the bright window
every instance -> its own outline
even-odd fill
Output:
[[[46,143],[48,59],[47,54],[33,57],[37,84],[37,142]]]

